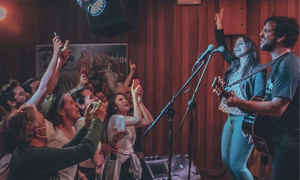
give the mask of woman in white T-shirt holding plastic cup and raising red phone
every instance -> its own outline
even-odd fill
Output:
[[[130,107],[128,100],[123,94],[118,93],[113,95],[108,102],[107,114],[104,121],[108,122],[108,140],[113,140],[112,142],[114,142],[110,143],[110,145],[117,145],[118,153],[116,160],[110,159],[106,162],[102,179],[140,179],[142,176],[141,164],[137,155],[134,154],[133,149],[136,138],[135,128],[145,127],[151,124],[153,118],[143,104],[143,90],[141,85],[138,85],[134,89],[133,84],[131,86],[131,92],[134,105],[133,116],[128,116]],[[140,97],[140,101],[138,97]],[[129,134],[116,143],[114,139],[119,131],[127,131]]]

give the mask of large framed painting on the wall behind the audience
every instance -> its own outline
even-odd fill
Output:
[[[127,44],[70,44],[71,56],[59,71],[55,91],[66,93],[86,74],[95,89],[113,95],[117,82],[127,76]],[[41,79],[48,67],[53,45],[36,46],[36,77]]]

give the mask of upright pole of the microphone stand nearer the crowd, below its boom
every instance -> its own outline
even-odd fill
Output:
[[[170,106],[167,111],[167,115],[169,115],[170,122],[170,130],[169,130],[169,162],[168,162],[168,177],[171,180],[171,172],[172,172],[172,156],[173,156],[173,116],[175,115],[175,110],[173,109],[173,105]]]

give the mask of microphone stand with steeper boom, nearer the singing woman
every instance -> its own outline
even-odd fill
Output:
[[[198,91],[198,89],[199,89],[199,86],[200,86],[200,83],[201,83],[201,81],[202,81],[202,78],[203,78],[203,75],[204,75],[204,73],[205,73],[205,71],[206,71],[206,69],[207,69],[207,66],[208,66],[208,64],[209,64],[209,62],[210,62],[210,59],[211,59],[211,56],[212,56],[212,54],[210,54],[209,56],[208,56],[208,60],[207,60],[207,63],[206,63],[206,65],[205,65],[205,67],[204,67],[204,70],[203,70],[203,72],[202,72],[202,75],[201,75],[201,77],[200,77],[200,79],[199,79],[199,82],[198,82],[198,84],[197,84],[197,87],[195,88],[195,91],[194,91],[194,93],[193,93],[193,96],[192,96],[192,98],[191,98],[191,100],[190,101],[188,101],[188,107],[187,107],[187,111],[185,112],[185,115],[184,115],[184,118],[183,118],[183,120],[182,120],[182,122],[181,122],[181,124],[180,124],[180,127],[179,127],[179,131],[181,131],[181,129],[182,129],[182,126],[183,126],[183,123],[184,123],[184,120],[185,120],[185,118],[186,118],[186,116],[187,116],[187,113],[189,112],[189,110],[192,110],[192,112],[191,112],[191,116],[190,116],[190,131],[189,131],[189,152],[188,152],[188,175],[187,175],[187,179],[188,180],[190,180],[190,169],[191,169],[191,164],[192,164],[192,133],[193,133],[193,119],[194,119],[194,114],[195,114],[195,107],[197,106],[197,103],[194,101],[194,98],[195,98],[195,95],[196,95],[196,92]]]

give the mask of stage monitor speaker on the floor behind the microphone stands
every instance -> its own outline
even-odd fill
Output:
[[[149,170],[151,179],[167,180],[168,179],[168,159],[169,155],[144,156],[143,160]],[[188,175],[188,155],[174,154],[172,157],[172,180],[187,179]],[[192,161],[190,179],[201,179],[199,171]]]

